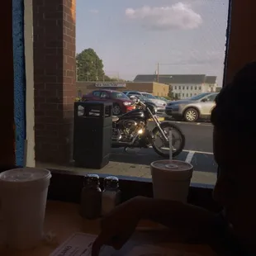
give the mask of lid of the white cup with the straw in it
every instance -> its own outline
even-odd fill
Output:
[[[193,166],[187,162],[178,160],[159,160],[150,164],[151,170],[166,172],[169,175],[179,178],[191,178]]]

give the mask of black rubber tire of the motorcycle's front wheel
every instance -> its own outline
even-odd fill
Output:
[[[164,122],[160,124],[160,127],[164,130],[166,128],[169,128],[170,130],[175,130],[176,133],[178,134],[178,136],[180,137],[180,145],[178,147],[178,149],[173,150],[173,157],[178,156],[178,154],[181,154],[181,152],[183,152],[183,149],[185,147],[185,136],[183,135],[182,130],[179,129],[178,126],[174,125],[173,123],[170,122]],[[152,133],[154,135],[154,137],[156,137],[156,135],[158,133],[160,133],[161,131],[159,130],[159,127],[156,126],[154,127],[154,129],[152,130]],[[154,151],[159,154],[160,156],[163,156],[164,158],[169,158],[169,151],[167,153],[164,153],[163,151],[161,151],[161,149],[159,149],[159,147],[157,145],[155,145],[155,140],[152,142],[152,147],[154,149]]]

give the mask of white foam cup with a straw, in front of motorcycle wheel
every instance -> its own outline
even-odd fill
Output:
[[[187,202],[193,166],[178,160],[150,164],[154,198]]]

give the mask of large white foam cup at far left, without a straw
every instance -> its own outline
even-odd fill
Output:
[[[16,168],[0,174],[4,243],[12,249],[31,249],[43,236],[50,171]]]

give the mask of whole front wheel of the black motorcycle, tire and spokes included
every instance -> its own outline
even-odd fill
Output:
[[[165,136],[169,137],[169,130],[172,131],[173,136],[173,157],[178,156],[178,154],[181,154],[183,152],[183,149],[185,147],[185,136],[183,135],[182,130],[179,129],[178,126],[174,125],[170,122],[164,122],[160,124],[161,129],[164,131]],[[159,127],[154,127],[154,130],[152,130],[152,133],[154,135],[154,140],[152,141],[152,147],[154,151],[163,156],[164,158],[169,158],[169,142],[164,139],[164,136],[162,135],[161,131],[159,130]],[[160,140],[160,145],[158,145],[158,139]],[[179,142],[177,144],[177,142]]]

